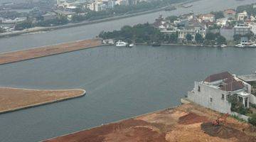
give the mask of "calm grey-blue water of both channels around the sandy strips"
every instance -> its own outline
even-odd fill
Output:
[[[255,0],[245,0],[250,4]],[[92,38],[100,31],[152,22],[195,11],[205,13],[242,5],[235,0],[202,0],[191,9],[160,11],[118,21],[0,39],[0,52]],[[0,141],[41,141],[150,111],[174,107],[193,81],[230,71],[256,70],[256,49],[101,47],[0,65],[0,86],[36,89],[82,88],[78,99],[0,115]]]

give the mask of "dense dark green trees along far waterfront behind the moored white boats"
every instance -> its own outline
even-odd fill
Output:
[[[115,40],[125,40],[128,42],[136,43],[177,43],[178,42],[178,32],[171,34],[164,34],[159,31],[159,29],[154,28],[149,23],[138,24],[136,26],[124,26],[119,31],[102,31],[99,35],[100,38],[107,39],[113,38]],[[209,45],[213,44],[225,44],[226,39],[218,33],[207,33],[206,38],[203,35],[196,33],[195,37],[191,34],[186,35],[186,41],[188,43],[195,40],[196,43],[205,43]]]

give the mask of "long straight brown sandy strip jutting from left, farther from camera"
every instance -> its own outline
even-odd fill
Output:
[[[0,65],[10,62],[18,62],[33,58],[41,58],[48,55],[67,53],[74,50],[92,48],[101,45],[100,40],[79,40],[71,43],[62,43],[58,45],[49,45],[40,48],[32,48],[28,50],[18,50],[9,53],[0,53]]]

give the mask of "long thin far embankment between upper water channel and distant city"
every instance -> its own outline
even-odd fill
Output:
[[[201,1],[201,0],[185,1],[185,2],[181,2],[181,3],[173,4],[171,6],[176,7],[176,6],[191,3],[191,2],[194,2],[194,1]],[[14,31],[12,33],[0,33],[0,38],[8,38],[8,37],[11,37],[11,36],[23,35],[23,34],[26,34],[26,33],[36,33],[36,32],[40,32],[40,31],[52,31],[52,30],[58,30],[58,29],[62,29],[62,28],[72,28],[72,27],[76,27],[76,26],[85,26],[85,25],[91,25],[93,23],[103,23],[103,22],[107,22],[107,21],[115,21],[115,20],[119,20],[119,19],[122,19],[122,18],[129,18],[129,17],[144,15],[144,14],[147,14],[147,13],[154,13],[154,12],[158,12],[158,11],[164,11],[164,9],[166,9],[166,7],[169,7],[169,6],[164,6],[164,7],[161,7],[161,8],[158,8],[158,9],[152,9],[152,10],[149,10],[149,11],[129,13],[127,15],[122,14],[121,16],[113,16],[113,17],[103,18],[103,19],[98,19],[98,20],[93,20],[93,21],[82,21],[82,22],[79,22],[79,23],[70,23],[70,24],[66,24],[66,25],[62,25],[62,26],[34,27],[34,28],[28,28],[28,29],[23,30],[23,31]]]

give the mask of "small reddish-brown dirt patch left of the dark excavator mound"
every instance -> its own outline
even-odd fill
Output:
[[[198,116],[197,114],[189,113],[185,116],[181,116],[178,119],[178,124],[196,124],[206,121],[208,121],[208,119],[205,116]]]

